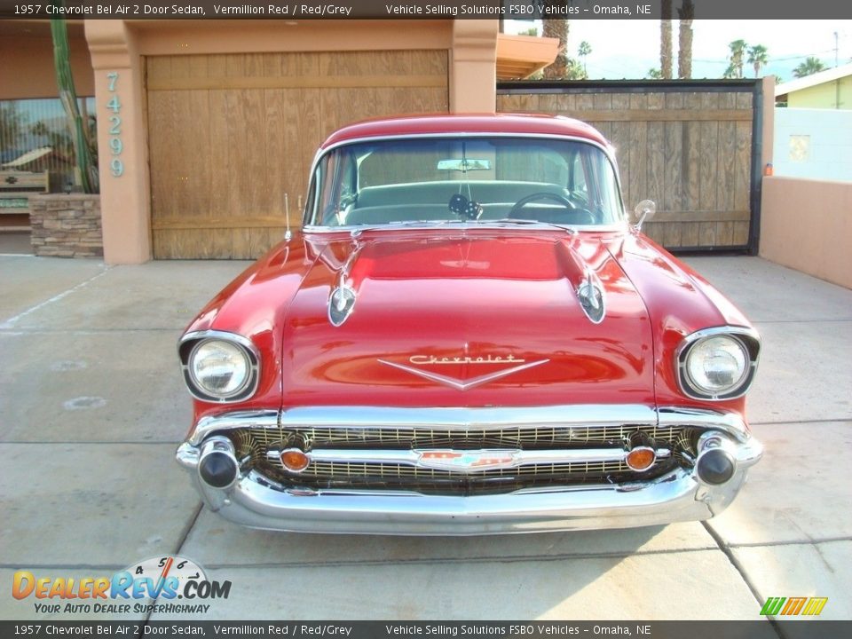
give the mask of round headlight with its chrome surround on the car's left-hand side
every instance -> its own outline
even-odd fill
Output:
[[[256,390],[257,354],[239,335],[186,335],[180,345],[186,385],[206,401],[239,401]],[[188,348],[187,348],[188,347]]]

